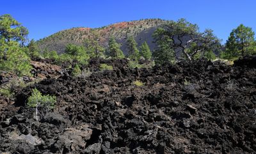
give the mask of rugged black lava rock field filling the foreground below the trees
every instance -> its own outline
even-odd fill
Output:
[[[109,63],[114,71],[85,78],[56,66],[57,78],[45,75],[14,101],[0,96],[0,152],[256,153],[256,57],[233,66],[198,60],[128,69],[127,61]],[[26,107],[33,88],[57,97],[38,122],[35,109]]]

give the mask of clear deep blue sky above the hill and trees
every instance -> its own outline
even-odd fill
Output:
[[[12,0],[2,1],[0,15],[10,14],[40,39],[72,27],[102,27],[141,18],[186,18],[200,31],[212,29],[223,43],[239,24],[256,31],[254,0]]]

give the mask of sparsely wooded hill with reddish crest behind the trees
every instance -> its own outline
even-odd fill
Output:
[[[150,49],[153,50],[155,45],[152,43],[153,32],[159,27],[168,23],[168,20],[161,19],[145,19],[131,22],[119,22],[116,24],[91,29],[88,27],[77,27],[56,32],[51,36],[40,39],[37,43],[41,50],[55,50],[62,53],[68,43],[83,45],[84,40],[92,38],[93,35],[99,35],[100,45],[107,47],[110,36],[115,36],[118,43],[122,44],[122,50],[126,51],[126,39],[128,36],[134,36],[140,46],[144,41],[147,41]]]

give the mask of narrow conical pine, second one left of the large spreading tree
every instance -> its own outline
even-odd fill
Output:
[[[129,53],[129,58],[132,60],[139,60],[140,59],[140,52],[137,48],[137,43],[133,37],[129,37],[127,39],[127,50]]]

